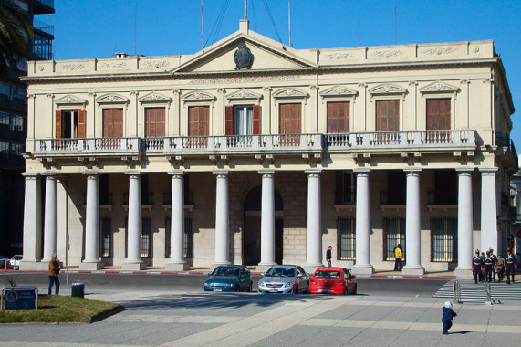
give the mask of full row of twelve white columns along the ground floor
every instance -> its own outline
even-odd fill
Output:
[[[497,249],[495,224],[495,171],[482,169],[481,245]],[[357,180],[356,200],[356,262],[353,273],[368,274],[374,271],[370,262],[370,170],[354,171]],[[467,273],[473,256],[473,197],[472,172],[457,170],[458,191],[458,266],[456,272]],[[406,253],[404,274],[423,274],[421,260],[421,170],[405,170],[406,173]],[[98,269],[99,260],[99,174],[87,172],[87,205],[85,216],[85,257],[80,268]],[[171,258],[166,269],[186,269],[183,256],[184,196],[182,171],[170,172],[172,176]],[[261,203],[261,261],[259,268],[267,268],[275,261],[275,171],[259,171],[262,182]],[[322,265],[321,228],[321,171],[308,170],[307,174],[307,268]],[[145,268],[141,259],[141,174],[127,173],[129,177],[129,212],[127,259],[123,269]],[[214,266],[230,264],[229,249],[229,188],[228,172],[215,171],[215,258]],[[24,216],[24,260],[21,267],[31,268],[31,263],[47,262],[57,252],[57,174],[45,174],[45,216],[43,258],[41,253],[41,207],[37,174],[25,174],[26,201]],[[34,268],[34,267],[32,267]]]

